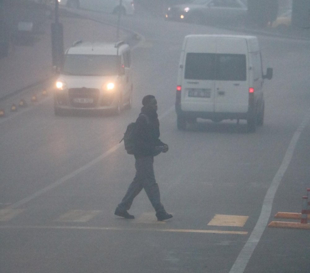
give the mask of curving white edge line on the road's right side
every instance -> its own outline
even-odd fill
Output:
[[[294,149],[296,147],[300,134],[303,131],[303,129],[306,127],[309,121],[310,121],[310,109],[308,109],[308,114],[304,117],[302,123],[299,125],[297,130],[294,132],[294,135],[286,150],[281,166],[278,169],[275,177],[272,179],[271,185],[265,195],[262,210],[259,215],[258,221],[253,231],[251,232],[249,239],[247,240],[246,244],[244,245],[241,252],[239,253],[236,261],[232,265],[232,268],[230,269],[229,273],[243,273],[244,272],[250,260],[250,257],[252,256],[253,251],[256,248],[256,245],[258,244],[260,238],[263,235],[263,232],[266,226],[268,225],[268,220],[271,214],[274,196],[276,194],[278,186],[280,185],[282,177],[284,176],[284,173],[286,172],[286,169],[290,164],[290,160],[292,159]]]

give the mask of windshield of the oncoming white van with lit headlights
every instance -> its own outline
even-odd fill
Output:
[[[115,55],[65,56],[62,73],[75,76],[112,76],[119,73],[119,58]]]

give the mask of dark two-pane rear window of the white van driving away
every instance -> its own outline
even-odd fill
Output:
[[[192,80],[246,80],[246,55],[187,53],[185,78]]]

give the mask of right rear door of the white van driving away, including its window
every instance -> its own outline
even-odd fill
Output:
[[[248,54],[244,38],[219,38],[217,43],[215,113],[248,111]]]

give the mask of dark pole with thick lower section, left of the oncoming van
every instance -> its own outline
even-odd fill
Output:
[[[64,59],[63,25],[59,22],[59,2],[55,0],[55,22],[51,24],[52,31],[52,65],[61,67]]]

